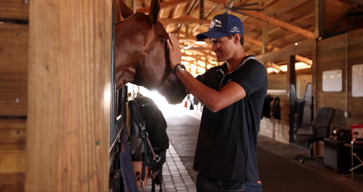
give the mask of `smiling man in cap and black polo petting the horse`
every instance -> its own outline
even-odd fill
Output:
[[[257,169],[257,134],[267,92],[264,65],[246,56],[242,21],[233,15],[213,18],[208,32],[222,66],[194,78],[180,64],[179,42],[169,34],[173,73],[203,105],[193,169],[197,191],[262,191]],[[177,78],[175,78],[177,79]]]

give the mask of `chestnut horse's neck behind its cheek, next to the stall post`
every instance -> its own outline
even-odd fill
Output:
[[[128,29],[123,30],[123,29]],[[116,32],[116,89],[134,81],[136,68],[143,60],[142,45],[131,42],[127,22],[118,24]],[[131,34],[132,35],[132,34]]]

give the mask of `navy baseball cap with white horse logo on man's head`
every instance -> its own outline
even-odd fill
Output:
[[[243,23],[237,16],[224,13],[213,17],[207,32],[197,34],[197,40],[221,38],[229,34],[243,34]]]

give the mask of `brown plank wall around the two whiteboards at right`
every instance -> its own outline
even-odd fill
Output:
[[[348,54],[346,54],[347,48]],[[316,105],[317,109],[320,107],[334,107],[336,113],[332,127],[349,129],[351,124],[363,123],[363,110],[361,109],[363,106],[363,98],[352,97],[352,66],[357,64],[363,64],[363,29],[317,42]],[[337,69],[341,69],[343,72],[342,91],[322,91],[322,73],[326,70]],[[346,86],[347,70],[348,86]],[[348,98],[346,99],[347,92]],[[344,117],[344,111],[346,110],[351,114],[348,118]],[[323,142],[320,142],[318,144],[317,154],[323,155],[323,151]]]

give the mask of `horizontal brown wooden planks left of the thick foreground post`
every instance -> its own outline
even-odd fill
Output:
[[[0,0],[0,191],[24,191],[29,1]]]

